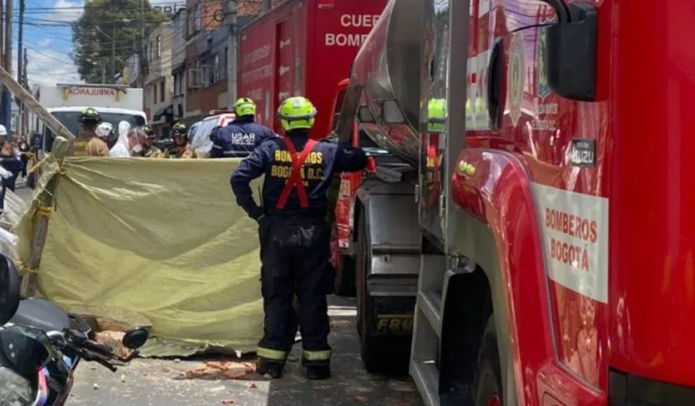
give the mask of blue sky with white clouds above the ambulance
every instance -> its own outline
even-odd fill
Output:
[[[151,0],[152,5],[176,0]],[[17,75],[19,1],[14,0],[13,75]],[[73,51],[71,23],[80,18],[84,0],[25,0],[24,44],[28,49],[30,85],[79,83]]]

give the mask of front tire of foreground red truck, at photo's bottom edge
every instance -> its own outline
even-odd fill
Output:
[[[476,406],[502,406],[502,374],[494,314],[488,319],[488,325],[483,333],[475,388]]]

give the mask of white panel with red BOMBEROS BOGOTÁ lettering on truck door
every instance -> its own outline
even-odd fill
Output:
[[[548,278],[608,303],[608,199],[531,183]]]

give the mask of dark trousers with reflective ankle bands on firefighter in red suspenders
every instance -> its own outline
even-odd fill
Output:
[[[259,228],[261,285],[265,311],[264,336],[258,356],[284,364],[292,344],[296,320],[293,298],[301,314],[302,362],[330,363],[328,307],[335,270],[330,263],[330,227],[324,219],[262,219]]]

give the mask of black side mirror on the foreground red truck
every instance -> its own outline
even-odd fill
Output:
[[[596,6],[543,0],[555,8],[558,22],[547,28],[545,59],[548,82],[560,96],[596,100]]]

